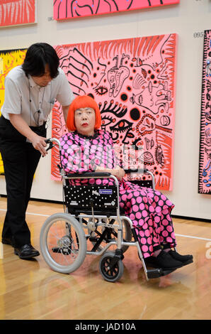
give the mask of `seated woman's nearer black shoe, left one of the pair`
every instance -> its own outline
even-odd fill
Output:
[[[144,262],[147,266],[152,268],[161,268],[161,269],[177,269],[183,266],[183,263],[173,259],[169,252],[164,252],[163,250],[159,253],[157,257],[146,257]]]

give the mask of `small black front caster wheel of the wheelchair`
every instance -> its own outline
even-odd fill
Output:
[[[115,254],[113,252],[105,252],[99,262],[101,275],[103,276],[103,279],[108,282],[118,281],[122,277],[124,271],[124,266],[120,259],[113,269],[110,269],[110,263],[114,256]]]

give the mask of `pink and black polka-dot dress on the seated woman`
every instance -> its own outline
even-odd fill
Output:
[[[119,165],[108,131],[97,130],[93,136],[83,136],[76,131],[64,134],[62,168],[67,173],[95,171],[97,166],[115,168]],[[75,179],[72,185],[109,184],[113,179]],[[161,246],[176,247],[171,220],[174,205],[164,194],[152,188],[144,188],[129,181],[119,181],[120,208],[132,220],[144,258],[150,257]]]

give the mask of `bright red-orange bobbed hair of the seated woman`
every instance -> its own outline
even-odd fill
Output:
[[[77,109],[81,108],[92,108],[96,113],[96,122],[94,129],[99,129],[101,127],[101,112],[96,101],[89,95],[77,96],[72,104],[69,106],[68,115],[67,115],[67,129],[69,131],[76,131],[76,126],[74,124],[74,112]]]

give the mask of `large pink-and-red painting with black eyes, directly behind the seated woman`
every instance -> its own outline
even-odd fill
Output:
[[[172,189],[176,39],[176,34],[168,34],[55,46],[74,95],[96,99],[102,128],[117,146],[144,147],[139,162],[154,173],[156,189],[161,190]],[[52,136],[59,138],[65,131],[56,102]],[[55,147],[55,180],[58,163]]]

